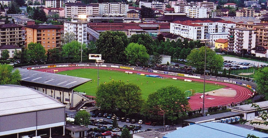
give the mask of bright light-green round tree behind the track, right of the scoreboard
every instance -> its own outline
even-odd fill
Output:
[[[149,54],[144,45],[130,43],[125,49],[125,54],[130,63],[144,64],[149,60]]]

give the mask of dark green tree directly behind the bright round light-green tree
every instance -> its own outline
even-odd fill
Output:
[[[149,34],[141,33],[130,36],[130,43],[138,43],[145,46],[149,55],[154,52],[154,41]]]

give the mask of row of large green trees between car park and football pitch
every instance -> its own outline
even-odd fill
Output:
[[[141,113],[157,119],[163,111],[169,120],[186,116],[190,110],[188,100],[175,86],[163,87],[142,99],[141,89],[132,83],[108,82],[101,84],[96,92],[97,106],[106,113],[125,113],[126,116]],[[161,113],[162,112],[162,113]]]

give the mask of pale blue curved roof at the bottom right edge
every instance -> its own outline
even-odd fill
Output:
[[[246,138],[247,134],[268,137],[268,134],[224,123],[206,122],[173,131],[163,138]]]

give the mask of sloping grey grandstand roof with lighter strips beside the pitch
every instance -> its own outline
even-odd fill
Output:
[[[67,75],[46,73],[42,71],[27,70],[22,68],[18,68],[18,70],[21,74],[21,81],[57,86],[68,89],[75,88],[92,80]]]

